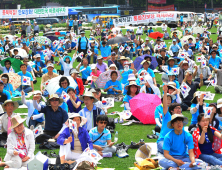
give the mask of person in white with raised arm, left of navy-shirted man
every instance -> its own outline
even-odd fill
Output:
[[[30,129],[34,129],[38,124],[44,125],[45,124],[45,118],[43,113],[39,113],[37,109],[33,106],[33,100],[27,100],[25,99],[25,93],[21,91],[22,94],[22,103],[28,107],[28,117],[26,120],[26,125]],[[37,103],[40,105],[45,106],[45,102],[41,101],[42,99],[42,93],[41,91],[34,91],[34,96],[38,96]]]

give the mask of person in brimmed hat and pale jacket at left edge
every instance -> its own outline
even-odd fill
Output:
[[[9,129],[9,127],[11,127],[11,118],[16,115],[16,113],[14,113],[14,111],[18,108],[18,103],[16,101],[12,101],[12,100],[6,100],[3,105],[2,108],[4,110],[4,114],[0,117],[0,121],[2,122],[0,124],[0,129],[1,129],[1,133],[0,134],[0,141],[5,141],[8,137],[8,135],[11,133],[11,129]]]

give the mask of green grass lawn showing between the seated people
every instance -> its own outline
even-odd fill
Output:
[[[162,32],[162,29],[157,28],[157,31]],[[123,29],[123,34],[125,34],[125,32],[126,32],[126,30]],[[168,28],[168,32],[170,33],[169,28]],[[211,30],[211,32],[216,33],[217,32],[216,28],[213,28]],[[86,36],[89,37],[89,31],[86,31]],[[142,38],[145,40],[146,35],[143,35]],[[214,42],[216,42],[217,34],[212,34],[211,38],[213,39]],[[169,48],[169,46],[171,45],[172,40],[166,40],[165,42],[166,42],[167,47]],[[73,53],[74,52],[70,53],[71,57],[72,57]],[[58,57],[55,58],[55,60],[58,61]],[[78,65],[77,62],[75,62],[73,64],[74,67],[76,67],[77,65]],[[59,69],[58,66],[56,66],[56,68]],[[161,74],[156,73],[155,76],[156,76],[157,83],[162,85]],[[35,90],[40,89],[41,79],[37,78],[37,81],[38,82],[34,85]],[[201,87],[200,91],[205,91],[205,89],[206,89],[206,86],[203,86],[203,87]],[[160,88],[160,90],[162,91],[162,88]],[[210,86],[207,89],[207,91],[211,91],[212,93],[215,92],[213,86]],[[216,102],[219,98],[220,98],[220,94],[216,94],[213,101],[205,101],[205,102],[209,102],[209,103]],[[13,99],[13,100],[21,100],[21,99]],[[122,111],[123,108],[120,107],[121,104],[122,104],[121,102],[115,102],[115,107],[109,109],[108,112],[111,113],[113,111]],[[15,112],[16,113],[27,113],[27,109],[17,109]],[[189,124],[190,124],[190,120],[191,120],[190,112],[185,111],[185,112],[183,112],[183,115],[188,117]],[[112,116],[112,117],[117,117],[117,116]],[[146,137],[147,134],[152,134],[152,130],[154,129],[154,127],[155,127],[155,125],[133,124],[133,125],[130,125],[130,126],[122,126],[120,124],[116,124],[115,131],[118,131],[118,133],[119,133],[118,143],[124,142],[127,145],[129,145],[131,141],[139,142],[140,139],[144,139],[145,142],[156,142],[156,140],[148,139]],[[113,134],[113,138],[114,138],[114,134]],[[38,151],[44,151],[44,150],[39,149],[39,146],[36,145],[35,154]],[[99,167],[115,168],[116,170],[126,170],[129,167],[133,167],[134,162],[135,162],[135,153],[136,153],[136,151],[137,151],[136,149],[129,149],[128,150],[129,157],[127,157],[127,158],[118,158],[117,156],[113,156],[112,158],[104,158],[100,161],[101,165],[99,165]],[[49,153],[50,151],[47,150],[47,152]],[[58,152],[59,152],[59,149],[56,150],[57,154],[58,154]],[[6,149],[0,148],[0,157],[4,158],[5,154],[6,154]],[[1,169],[3,169],[3,168],[0,168],[0,170]]]

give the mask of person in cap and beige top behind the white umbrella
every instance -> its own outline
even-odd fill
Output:
[[[48,92],[44,89],[45,85],[43,85],[43,84],[45,82],[47,82],[48,80],[59,76],[58,74],[53,73],[53,69],[54,69],[54,65],[52,63],[47,64],[48,73],[46,73],[42,76],[40,90],[41,90],[43,96],[48,96]]]

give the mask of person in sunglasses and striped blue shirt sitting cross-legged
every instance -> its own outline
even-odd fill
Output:
[[[106,129],[108,117],[106,115],[98,115],[96,118],[97,127],[89,131],[89,136],[93,142],[93,148],[98,151],[102,157],[112,157],[116,152],[116,147],[111,142],[111,133]]]

